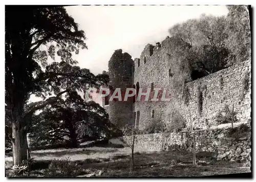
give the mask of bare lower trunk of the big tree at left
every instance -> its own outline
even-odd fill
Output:
[[[27,159],[28,143],[26,132],[19,121],[12,123],[12,138],[13,165],[20,165]]]

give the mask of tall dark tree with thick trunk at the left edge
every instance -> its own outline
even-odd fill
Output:
[[[64,7],[6,6],[5,12],[6,118],[18,165],[26,158],[26,133],[36,110],[63,96],[99,87],[109,78],[75,65],[73,55],[87,49],[86,35]],[[42,101],[27,105],[32,94]]]

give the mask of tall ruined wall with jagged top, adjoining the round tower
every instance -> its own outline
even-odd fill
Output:
[[[146,92],[146,88],[151,88],[153,83],[154,88],[166,88],[169,93],[169,58],[167,53],[170,51],[169,45],[172,44],[172,38],[167,37],[161,42],[161,47],[155,46],[151,55],[152,45],[147,44],[139,58],[135,59],[134,85],[139,82],[140,88]],[[145,62],[144,62],[145,60]],[[153,94],[153,93],[152,93]],[[144,98],[134,104],[134,111],[140,111],[139,128],[143,128],[150,120],[153,120],[151,113],[154,110],[155,119],[167,120],[166,109],[168,103],[164,101],[144,101]]]

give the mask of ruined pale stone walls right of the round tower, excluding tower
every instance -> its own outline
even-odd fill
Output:
[[[249,89],[245,92],[243,100],[240,95],[242,94],[243,79],[248,72],[251,77],[251,60],[244,61],[240,64],[233,65],[227,69],[221,70],[214,74],[210,74],[195,81],[186,84],[189,100],[186,104],[182,97],[174,97],[172,95],[172,77],[169,76],[170,58],[167,56],[174,46],[173,39],[167,37],[161,42],[161,47],[157,45],[154,47],[147,44],[141,53],[140,58],[134,61],[134,85],[139,83],[143,92],[146,88],[151,88],[153,83],[154,87],[166,88],[166,97],[170,98],[169,102],[166,101],[141,101],[133,105],[135,112],[140,112],[139,128],[143,129],[152,118],[152,111],[154,110],[154,120],[164,121],[169,123],[171,121],[170,114],[173,111],[178,111],[186,119],[187,127],[190,127],[191,120],[196,121],[194,128],[206,128],[207,125],[215,124],[215,116],[219,110],[222,110],[225,104],[232,110],[237,112],[237,118],[240,121],[246,122],[250,119],[251,111],[251,81],[249,79]],[[157,49],[158,48],[158,49]],[[152,53],[153,49],[153,53]],[[144,63],[145,60],[145,63]],[[138,66],[138,61],[139,66]],[[198,91],[202,93],[202,109],[201,113],[198,109]],[[153,93],[152,93],[153,94]]]

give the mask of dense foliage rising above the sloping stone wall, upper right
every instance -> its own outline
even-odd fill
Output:
[[[227,9],[227,16],[202,14],[169,29],[173,42],[167,56],[176,93],[182,92],[186,82],[249,59],[249,7]]]

